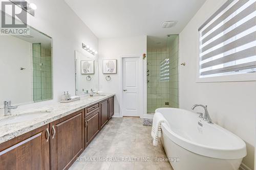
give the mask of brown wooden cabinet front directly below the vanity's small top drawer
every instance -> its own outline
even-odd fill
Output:
[[[85,138],[86,138],[86,146],[87,146],[100,131],[100,110],[99,109],[96,110],[85,119],[86,119]]]

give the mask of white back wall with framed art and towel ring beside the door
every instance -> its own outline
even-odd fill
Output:
[[[122,55],[143,55],[146,53],[146,36],[99,39],[99,89],[116,93],[115,114],[119,114],[119,74]],[[117,74],[112,74],[111,81],[106,81],[102,74],[102,59],[117,59]],[[145,65],[146,61],[143,60]]]

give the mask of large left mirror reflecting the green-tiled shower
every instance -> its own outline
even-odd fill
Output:
[[[52,38],[29,27],[25,35],[0,38],[0,106],[53,99]]]

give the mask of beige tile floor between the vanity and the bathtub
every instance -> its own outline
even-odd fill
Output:
[[[169,162],[155,161],[166,154],[161,142],[153,146],[151,127],[142,123],[141,118],[112,118],[70,170],[173,170]]]

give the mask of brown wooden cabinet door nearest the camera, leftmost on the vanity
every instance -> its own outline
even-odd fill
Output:
[[[0,169],[50,169],[48,132],[49,124],[1,143]]]

